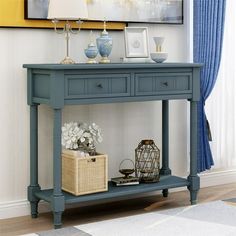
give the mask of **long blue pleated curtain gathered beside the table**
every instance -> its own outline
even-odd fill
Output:
[[[209,126],[204,110],[219,70],[224,32],[226,0],[194,0],[194,62],[201,70],[201,100],[198,103],[198,172],[214,165],[209,145]]]

